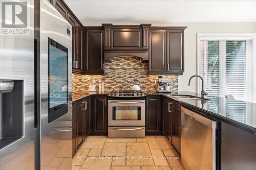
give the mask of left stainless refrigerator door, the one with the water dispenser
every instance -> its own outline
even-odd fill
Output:
[[[0,169],[30,170],[34,169],[35,140],[34,1],[0,3],[0,80],[14,81],[12,91],[0,93]],[[14,6],[17,8],[12,8]],[[2,13],[4,9],[5,16]],[[4,28],[4,18],[6,23],[12,20],[14,17],[10,16],[15,15],[18,9],[22,15],[18,16],[20,20]],[[15,28],[16,24],[23,22],[22,29]],[[15,33],[16,30],[20,32]]]

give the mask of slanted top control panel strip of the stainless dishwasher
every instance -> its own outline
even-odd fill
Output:
[[[188,110],[184,107],[181,107],[181,113],[184,113],[184,114],[188,115],[194,121],[197,121],[201,124],[204,124],[205,126],[211,128],[211,129],[217,129],[217,123],[218,122],[216,122],[214,120],[211,120],[209,118],[201,116],[198,113],[195,113],[195,112],[193,112],[191,110]]]

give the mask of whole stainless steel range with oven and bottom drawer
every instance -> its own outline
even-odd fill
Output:
[[[120,90],[108,96],[108,137],[145,137],[145,93]]]

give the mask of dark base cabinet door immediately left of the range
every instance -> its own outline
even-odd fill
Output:
[[[106,115],[106,97],[94,96],[93,98],[93,133],[96,135],[106,135],[107,133],[107,115]]]

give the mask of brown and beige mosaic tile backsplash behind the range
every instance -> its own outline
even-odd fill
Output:
[[[135,57],[115,57],[112,62],[104,63],[104,75],[72,74],[73,93],[89,91],[89,80],[97,79],[98,84],[104,83],[104,91],[131,89],[130,85],[137,84],[145,92],[155,92],[157,75],[147,75],[148,65],[142,59]],[[178,76],[163,76],[173,79],[171,88],[178,90]],[[138,82],[134,82],[137,79]],[[96,91],[98,91],[98,84]]]

